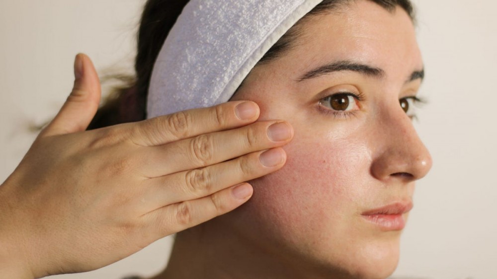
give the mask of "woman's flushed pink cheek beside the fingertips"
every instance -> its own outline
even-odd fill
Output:
[[[360,204],[368,198],[368,149],[360,140],[330,141],[296,133],[285,146],[287,163],[252,181],[251,212],[286,239],[335,238],[357,231]],[[309,238],[310,235],[313,237]]]

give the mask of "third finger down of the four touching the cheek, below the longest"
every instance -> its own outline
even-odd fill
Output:
[[[149,212],[166,205],[207,197],[274,172],[285,164],[285,160],[285,151],[278,147],[201,169],[152,178],[145,182],[146,190],[139,200],[146,207],[143,210]]]

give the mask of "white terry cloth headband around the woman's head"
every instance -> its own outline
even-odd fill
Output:
[[[147,118],[227,102],[250,70],[322,0],[191,0],[154,65]]]

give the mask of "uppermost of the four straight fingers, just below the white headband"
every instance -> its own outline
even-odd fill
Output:
[[[228,102],[142,121],[133,126],[131,140],[143,146],[162,145],[245,126],[255,122],[258,117],[259,107],[254,102]]]

